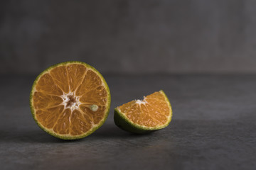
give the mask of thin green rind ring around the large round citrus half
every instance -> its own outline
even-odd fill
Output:
[[[108,94],[108,96],[107,96],[107,105],[106,105],[107,111],[105,113],[105,117],[102,118],[101,122],[99,124],[97,124],[97,126],[95,128],[92,128],[90,131],[86,132],[85,134],[78,135],[78,136],[59,135],[59,134],[57,134],[55,132],[52,132],[52,131],[48,130],[47,128],[44,128],[40,123],[38,123],[38,120],[36,120],[36,113],[35,113],[35,109],[33,108],[33,100],[32,100],[33,92],[34,92],[34,89],[35,89],[35,86],[36,86],[36,83],[37,83],[38,79],[43,74],[45,74],[46,72],[50,71],[51,69],[53,69],[55,67],[58,67],[60,65],[66,65],[66,64],[83,64],[83,65],[85,65],[85,67],[90,68],[93,71],[95,71],[100,76],[102,81],[104,82],[106,90],[107,90],[107,94]],[[86,64],[85,62],[79,62],[79,61],[61,62],[61,63],[54,64],[54,65],[48,67],[43,72],[41,72],[41,74],[39,74],[38,77],[36,77],[35,81],[33,82],[32,89],[31,89],[31,94],[30,94],[30,97],[29,97],[29,103],[30,103],[30,108],[31,108],[31,113],[33,115],[33,119],[36,121],[36,124],[43,131],[47,132],[48,134],[52,135],[53,137],[57,137],[57,138],[62,139],[62,140],[78,140],[78,139],[87,137],[88,135],[91,135],[93,132],[95,132],[95,130],[100,128],[103,125],[103,123],[105,123],[105,121],[107,120],[107,117],[108,117],[108,115],[110,113],[110,103],[111,103],[110,88],[107,85],[107,82],[105,81],[104,77],[102,77],[102,74],[100,74],[100,72],[98,72],[97,69],[95,69],[94,67],[90,66],[89,64]]]

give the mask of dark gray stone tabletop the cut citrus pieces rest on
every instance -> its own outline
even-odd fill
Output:
[[[256,75],[105,75],[110,115],[82,140],[63,141],[34,122],[35,76],[1,75],[0,169],[256,169]],[[133,135],[115,106],[163,89],[173,106],[164,130]]]

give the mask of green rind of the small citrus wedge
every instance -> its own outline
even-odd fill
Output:
[[[170,114],[171,115],[170,115],[169,121],[166,122],[166,124],[157,126],[154,128],[148,128],[148,127],[144,127],[142,125],[132,123],[132,121],[129,120],[127,118],[127,116],[124,115],[124,113],[121,113],[117,107],[117,108],[114,108],[114,123],[115,123],[115,125],[117,125],[122,130],[125,130],[127,132],[137,133],[137,134],[145,134],[145,133],[154,132],[156,130],[161,130],[163,128],[166,128],[169,125],[169,123],[171,122],[172,108],[171,108],[171,103],[170,103],[169,99],[167,98],[166,94],[164,93],[164,91],[161,90],[160,92],[162,94],[164,94],[166,101],[169,103],[169,106],[170,106]]]

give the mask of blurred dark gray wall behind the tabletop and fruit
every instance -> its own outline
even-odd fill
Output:
[[[0,2],[0,73],[255,73],[256,1]]]

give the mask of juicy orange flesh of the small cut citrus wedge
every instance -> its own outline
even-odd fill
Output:
[[[130,101],[119,106],[119,111],[137,125],[156,127],[169,120],[170,106],[160,91],[146,96],[143,101]]]

